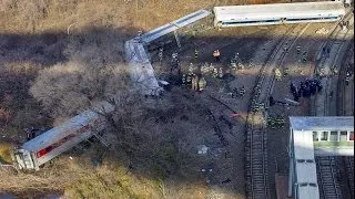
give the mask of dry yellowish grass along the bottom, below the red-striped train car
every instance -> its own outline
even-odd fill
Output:
[[[19,196],[60,192],[68,198],[120,199],[205,198],[207,193],[207,187],[202,182],[151,178],[129,171],[126,166],[112,163],[110,157],[99,167],[92,167],[87,156],[72,157],[62,156],[41,172],[0,169],[0,191]]]

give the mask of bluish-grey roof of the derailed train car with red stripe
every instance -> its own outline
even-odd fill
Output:
[[[61,125],[58,125],[50,130],[37,136],[36,138],[24,143],[21,148],[29,151],[38,151],[43,149],[53,143],[64,138],[69,134],[72,134],[83,126],[87,126],[90,122],[95,121],[99,117],[97,112],[102,112],[104,109],[105,113],[112,112],[113,106],[108,102],[103,102],[98,104],[93,109],[89,109],[83,112],[80,115],[77,115],[69,121],[64,122]]]

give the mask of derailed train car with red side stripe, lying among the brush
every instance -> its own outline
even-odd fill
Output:
[[[114,106],[110,103],[102,103],[95,109],[85,111],[24,143],[13,154],[17,167],[38,170],[44,163],[90,138],[93,135],[92,127],[95,130],[102,130],[105,121],[100,113],[110,113],[113,109]]]

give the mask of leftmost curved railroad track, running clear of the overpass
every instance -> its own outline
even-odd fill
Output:
[[[262,66],[253,90],[253,97],[247,114],[245,142],[246,195],[252,199],[270,197],[267,177],[267,136],[266,112],[268,96],[274,84],[274,70],[283,62],[287,49],[310,24],[293,25],[277,43],[266,63]]]

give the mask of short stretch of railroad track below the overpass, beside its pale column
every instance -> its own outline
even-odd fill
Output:
[[[316,157],[317,177],[321,181],[320,198],[341,199],[341,185],[337,180],[339,171],[336,164],[336,157]]]

